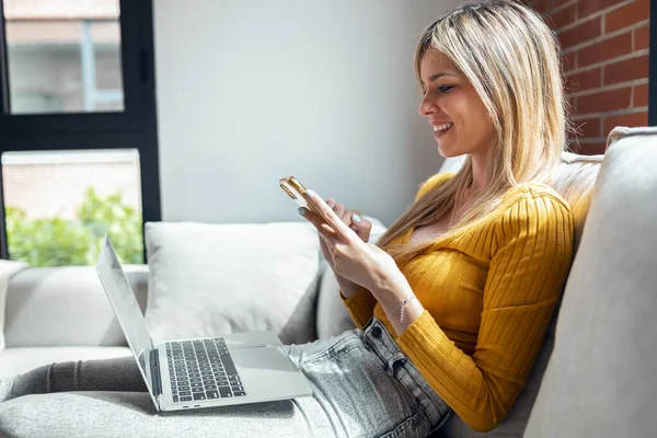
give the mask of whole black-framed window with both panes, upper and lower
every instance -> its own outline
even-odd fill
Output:
[[[150,2],[0,0],[0,252],[142,263],[160,220]]]

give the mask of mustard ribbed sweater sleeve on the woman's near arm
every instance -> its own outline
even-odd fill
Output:
[[[474,354],[456,347],[427,311],[397,338],[436,392],[477,431],[497,426],[527,382],[569,270],[573,232],[561,199],[522,197],[489,234]]]

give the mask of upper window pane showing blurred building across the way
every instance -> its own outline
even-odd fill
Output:
[[[4,0],[12,114],[124,110],[117,0]]]

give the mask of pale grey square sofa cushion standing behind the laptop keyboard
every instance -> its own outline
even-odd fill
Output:
[[[316,230],[307,222],[146,224],[155,341],[275,331],[315,338]]]

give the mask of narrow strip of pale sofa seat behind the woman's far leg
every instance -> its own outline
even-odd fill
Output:
[[[128,347],[7,348],[0,354],[0,377],[14,376],[53,362],[107,359],[130,355],[130,348]]]

